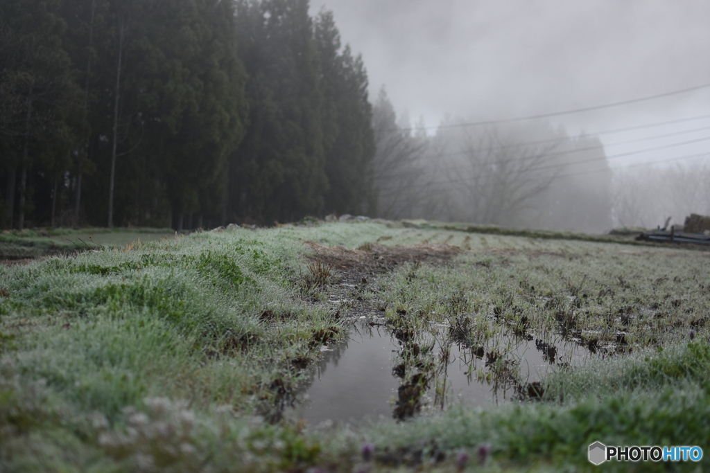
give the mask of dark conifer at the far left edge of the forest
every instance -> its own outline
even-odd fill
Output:
[[[8,0],[0,5],[0,90],[6,94],[2,102],[8,104],[0,114],[6,117],[6,222],[20,229],[35,208],[33,184],[40,179],[57,182],[72,140],[77,89],[62,45],[66,23],[59,9],[58,0]]]

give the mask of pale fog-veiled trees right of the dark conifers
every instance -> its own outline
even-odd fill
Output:
[[[402,123],[381,93],[373,106],[380,215],[551,230],[611,228],[612,172],[599,138],[570,136],[547,121],[477,121],[480,115],[447,118],[430,135],[406,119]]]

